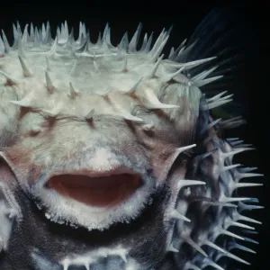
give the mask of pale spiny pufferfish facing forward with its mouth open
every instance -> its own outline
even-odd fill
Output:
[[[17,24],[13,46],[2,31],[1,270],[249,264],[237,250],[254,253],[260,222],[245,212],[263,207],[238,190],[260,174],[233,163],[252,148],[225,138],[241,118],[217,117],[232,94],[207,90],[226,64],[220,14],[168,57],[171,29],[139,40],[140,23],[117,45],[108,24],[95,43],[85,23],[76,40],[67,22],[54,38]],[[200,57],[205,39],[216,55]]]

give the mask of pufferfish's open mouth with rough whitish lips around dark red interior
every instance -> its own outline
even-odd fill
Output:
[[[151,202],[156,181],[150,169],[121,165],[78,169],[72,164],[44,171],[31,186],[34,201],[51,221],[103,230],[134,220]]]

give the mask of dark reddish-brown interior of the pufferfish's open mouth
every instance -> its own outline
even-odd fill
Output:
[[[60,195],[90,206],[104,207],[128,199],[140,186],[139,175],[120,174],[107,176],[55,175],[47,187]]]

